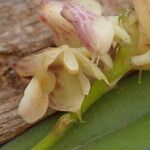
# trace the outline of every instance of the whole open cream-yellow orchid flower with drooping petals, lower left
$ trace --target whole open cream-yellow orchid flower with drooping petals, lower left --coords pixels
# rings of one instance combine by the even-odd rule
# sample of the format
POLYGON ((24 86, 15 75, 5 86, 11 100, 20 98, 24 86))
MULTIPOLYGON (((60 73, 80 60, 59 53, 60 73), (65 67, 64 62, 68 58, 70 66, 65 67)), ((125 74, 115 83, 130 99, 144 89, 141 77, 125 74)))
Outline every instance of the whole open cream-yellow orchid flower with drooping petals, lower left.
POLYGON ((16 64, 20 76, 32 77, 18 110, 26 122, 40 119, 48 106, 59 111, 79 112, 85 95, 89 94, 89 79, 107 82, 85 54, 85 48, 63 45, 27 56, 16 64))

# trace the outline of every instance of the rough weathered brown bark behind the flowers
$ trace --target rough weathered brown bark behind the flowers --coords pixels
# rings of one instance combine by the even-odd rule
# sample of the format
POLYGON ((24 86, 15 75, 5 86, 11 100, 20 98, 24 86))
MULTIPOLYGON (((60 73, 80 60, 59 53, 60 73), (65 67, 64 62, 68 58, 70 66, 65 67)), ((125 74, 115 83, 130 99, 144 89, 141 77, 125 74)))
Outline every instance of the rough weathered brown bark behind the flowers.
MULTIPOLYGON (((107 13, 120 9, 122 2, 128 3, 127 0, 100 1, 109 8, 107 13)), ((17 115, 26 85, 11 68, 12 64, 51 44, 51 32, 38 21, 33 0, 0 0, 0 143, 31 126, 17 115)), ((49 111, 47 115, 52 113, 49 111)))

